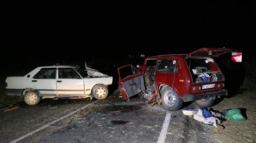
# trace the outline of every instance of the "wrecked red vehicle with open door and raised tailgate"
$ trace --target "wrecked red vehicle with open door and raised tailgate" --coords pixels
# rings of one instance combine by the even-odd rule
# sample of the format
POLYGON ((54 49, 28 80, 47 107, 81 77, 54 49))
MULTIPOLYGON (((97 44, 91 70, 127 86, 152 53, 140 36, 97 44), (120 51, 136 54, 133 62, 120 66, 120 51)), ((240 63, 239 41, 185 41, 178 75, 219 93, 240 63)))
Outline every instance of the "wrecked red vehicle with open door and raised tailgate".
POLYGON ((237 50, 201 48, 190 54, 151 56, 143 66, 118 68, 119 89, 124 99, 139 94, 147 103, 163 103, 171 111, 189 101, 210 107, 215 98, 227 95, 225 77, 212 58, 230 52, 237 50))

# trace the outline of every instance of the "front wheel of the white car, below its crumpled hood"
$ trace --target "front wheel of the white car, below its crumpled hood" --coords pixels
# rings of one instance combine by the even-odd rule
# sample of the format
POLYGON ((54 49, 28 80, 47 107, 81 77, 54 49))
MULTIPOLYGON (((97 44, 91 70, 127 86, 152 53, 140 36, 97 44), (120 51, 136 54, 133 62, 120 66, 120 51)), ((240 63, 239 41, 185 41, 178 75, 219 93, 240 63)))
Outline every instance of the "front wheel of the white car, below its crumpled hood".
POLYGON ((96 99, 104 99, 109 94, 109 90, 107 89, 106 85, 98 84, 92 88, 93 96, 96 99))

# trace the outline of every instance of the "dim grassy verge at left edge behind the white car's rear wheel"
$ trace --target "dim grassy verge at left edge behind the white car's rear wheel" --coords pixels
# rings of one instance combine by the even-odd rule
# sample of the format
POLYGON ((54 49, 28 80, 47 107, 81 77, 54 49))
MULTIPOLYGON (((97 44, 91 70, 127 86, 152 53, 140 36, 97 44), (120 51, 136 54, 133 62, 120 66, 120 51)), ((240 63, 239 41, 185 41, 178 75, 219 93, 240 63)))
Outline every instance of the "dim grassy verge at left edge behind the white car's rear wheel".
POLYGON ((15 95, 8 96, 8 95, 0 94, 0 107, 24 101, 23 98, 24 96, 15 96, 15 95))

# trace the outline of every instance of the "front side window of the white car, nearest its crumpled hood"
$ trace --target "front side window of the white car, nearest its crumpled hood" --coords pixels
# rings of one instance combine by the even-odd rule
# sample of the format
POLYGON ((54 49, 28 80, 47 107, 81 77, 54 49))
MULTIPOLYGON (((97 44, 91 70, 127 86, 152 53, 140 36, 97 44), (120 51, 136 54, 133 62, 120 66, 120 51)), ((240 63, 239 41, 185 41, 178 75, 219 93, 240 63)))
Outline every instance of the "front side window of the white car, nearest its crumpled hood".
POLYGON ((73 68, 58 68, 58 73, 59 73, 59 78, 74 78, 74 79, 81 78, 73 68))

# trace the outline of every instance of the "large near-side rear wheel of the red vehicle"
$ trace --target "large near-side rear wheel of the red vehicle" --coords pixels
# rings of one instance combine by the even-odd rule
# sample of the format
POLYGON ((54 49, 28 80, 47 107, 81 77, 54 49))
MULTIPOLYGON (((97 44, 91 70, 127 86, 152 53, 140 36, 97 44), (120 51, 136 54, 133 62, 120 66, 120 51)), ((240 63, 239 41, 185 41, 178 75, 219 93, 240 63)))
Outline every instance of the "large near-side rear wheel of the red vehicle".
POLYGON ((164 107, 167 110, 177 111, 181 108, 183 104, 183 99, 181 99, 175 90, 171 87, 163 87, 160 90, 161 98, 164 107))

